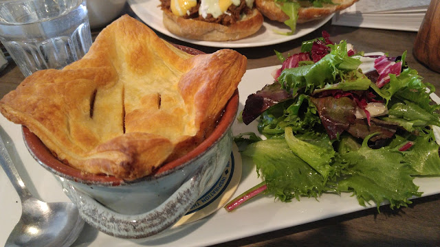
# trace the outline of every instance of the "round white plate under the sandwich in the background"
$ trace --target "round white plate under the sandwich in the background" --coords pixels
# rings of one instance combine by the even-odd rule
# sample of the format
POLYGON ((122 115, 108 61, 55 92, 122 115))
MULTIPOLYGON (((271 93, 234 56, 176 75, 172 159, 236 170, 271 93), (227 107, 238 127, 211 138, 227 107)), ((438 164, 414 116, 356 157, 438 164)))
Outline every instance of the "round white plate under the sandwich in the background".
POLYGON ((201 41, 201 40, 191 40, 188 38, 181 38, 171 34, 164 24, 162 23, 162 10, 158 7, 160 4, 159 0, 129 0, 129 4, 133 12, 146 23, 149 27, 154 30, 166 34, 167 36, 182 40, 195 45, 204 45, 208 47, 223 47, 223 48, 239 48, 239 47, 261 47, 265 45, 274 45, 283 43, 289 40, 294 40, 295 38, 300 38, 318 29, 320 26, 324 25, 331 19, 333 14, 327 16, 325 19, 320 19, 318 21, 311 21, 309 23, 303 23, 296 25, 296 32, 294 35, 286 36, 282 34, 276 34, 274 30, 279 32, 289 32, 290 29, 284 25, 284 23, 279 23, 276 21, 269 21, 265 19, 263 27, 256 32, 256 34, 249 36, 248 38, 243 38, 241 40, 234 41, 201 41))

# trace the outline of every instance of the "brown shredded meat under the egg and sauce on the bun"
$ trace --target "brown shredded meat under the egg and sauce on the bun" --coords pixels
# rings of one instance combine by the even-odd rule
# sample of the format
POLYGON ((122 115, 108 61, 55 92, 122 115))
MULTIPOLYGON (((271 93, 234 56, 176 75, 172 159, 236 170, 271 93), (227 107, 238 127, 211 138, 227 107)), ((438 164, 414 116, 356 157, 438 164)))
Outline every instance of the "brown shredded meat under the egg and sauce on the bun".
MULTIPOLYGON (((160 0, 160 8, 162 10, 170 10, 170 4, 171 0, 160 0)), ((240 20, 241 14, 251 14, 252 10, 246 5, 245 0, 240 1, 240 5, 236 6, 234 4, 231 4, 227 10, 228 14, 221 14, 221 16, 214 18, 212 14, 208 14, 206 18, 203 18, 203 16, 199 15, 199 8, 200 8, 200 2, 197 2, 197 5, 192 7, 189 10, 189 15, 185 14, 184 16, 181 16, 184 19, 193 19, 196 21, 206 21, 210 23, 219 23, 221 25, 231 25, 236 23, 240 20)))

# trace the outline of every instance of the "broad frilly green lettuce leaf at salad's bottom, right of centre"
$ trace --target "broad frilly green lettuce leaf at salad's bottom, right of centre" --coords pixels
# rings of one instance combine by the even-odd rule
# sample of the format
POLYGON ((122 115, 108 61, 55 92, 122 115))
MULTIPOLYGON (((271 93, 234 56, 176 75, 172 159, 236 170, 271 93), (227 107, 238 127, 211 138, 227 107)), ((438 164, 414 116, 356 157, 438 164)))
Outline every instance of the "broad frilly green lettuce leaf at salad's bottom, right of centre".
POLYGON ((339 156, 339 163, 346 163, 346 178, 338 181, 338 190, 352 192, 358 202, 375 202, 379 209, 382 202, 388 201, 391 209, 408 206, 412 196, 421 196, 411 174, 415 174, 410 164, 395 148, 388 146, 371 149, 364 140, 361 148, 339 156))

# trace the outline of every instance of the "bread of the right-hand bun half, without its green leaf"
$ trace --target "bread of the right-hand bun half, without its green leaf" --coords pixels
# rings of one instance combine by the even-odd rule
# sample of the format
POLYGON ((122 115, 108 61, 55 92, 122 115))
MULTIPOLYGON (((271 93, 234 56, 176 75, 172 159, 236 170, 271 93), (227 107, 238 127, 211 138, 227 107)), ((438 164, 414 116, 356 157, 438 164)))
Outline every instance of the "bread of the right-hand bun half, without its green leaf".
MULTIPOLYGON (((298 3, 301 4, 301 7, 298 10, 298 20, 296 23, 305 23, 307 21, 322 19, 336 11, 349 8, 356 1, 358 0, 333 0, 333 3, 336 4, 323 3, 322 8, 307 4, 308 2, 306 1, 298 1, 298 3)), ((278 8, 274 0, 255 0, 254 4, 264 16, 272 21, 285 22, 289 19, 289 16, 287 16, 281 8, 278 8)), ((279 4, 283 5, 283 3, 279 4)))

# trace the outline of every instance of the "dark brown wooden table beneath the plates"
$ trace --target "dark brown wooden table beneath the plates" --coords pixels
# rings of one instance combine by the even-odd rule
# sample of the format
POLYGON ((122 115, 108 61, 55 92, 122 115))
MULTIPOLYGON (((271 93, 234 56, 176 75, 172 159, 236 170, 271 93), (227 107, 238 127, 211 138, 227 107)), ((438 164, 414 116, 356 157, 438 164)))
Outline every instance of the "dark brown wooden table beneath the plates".
MULTIPOLYGON (((128 6, 124 12, 136 17, 128 6)), ((412 56, 415 32, 340 27, 329 22, 297 40, 236 51, 248 58, 248 69, 278 65, 280 62, 274 49, 285 56, 294 54, 300 51, 303 40, 320 36, 322 30, 329 32, 331 40, 347 40, 358 51, 387 51, 391 56, 399 56, 407 50, 406 61, 410 67, 417 69, 426 82, 434 84, 437 91, 440 91, 440 74, 430 71, 412 56)), ((92 30, 92 33, 96 36, 99 31, 92 30)), ((162 34, 159 36, 209 53, 217 50, 214 47, 184 43, 162 34)), ((0 96, 15 89, 23 79, 18 67, 10 60, 8 67, 0 71, 0 96)), ((217 246, 440 246, 440 194, 417 198, 407 208, 392 211, 385 206, 380 210, 381 213, 377 213, 375 208, 366 209, 217 246)))

